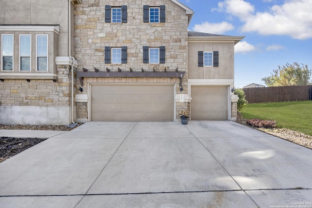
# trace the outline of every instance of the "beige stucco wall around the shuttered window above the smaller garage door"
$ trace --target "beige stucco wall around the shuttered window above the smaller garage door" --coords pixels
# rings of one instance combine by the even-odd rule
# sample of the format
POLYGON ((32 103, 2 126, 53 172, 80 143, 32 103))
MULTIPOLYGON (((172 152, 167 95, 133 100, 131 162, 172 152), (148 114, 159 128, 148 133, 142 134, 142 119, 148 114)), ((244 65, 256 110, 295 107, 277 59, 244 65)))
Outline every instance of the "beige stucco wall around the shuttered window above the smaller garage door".
POLYGON ((188 79, 234 79, 234 42, 189 42, 188 79), (219 52, 219 66, 198 67, 198 51, 219 52))

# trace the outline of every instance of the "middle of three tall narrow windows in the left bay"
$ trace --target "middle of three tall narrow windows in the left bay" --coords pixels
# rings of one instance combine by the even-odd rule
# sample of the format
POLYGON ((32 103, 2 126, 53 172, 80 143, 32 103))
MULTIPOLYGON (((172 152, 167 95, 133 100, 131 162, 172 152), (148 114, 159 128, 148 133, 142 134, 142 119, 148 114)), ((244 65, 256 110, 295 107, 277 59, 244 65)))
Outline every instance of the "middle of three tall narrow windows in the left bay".
POLYGON ((20 35, 20 71, 31 69, 31 35, 20 35))

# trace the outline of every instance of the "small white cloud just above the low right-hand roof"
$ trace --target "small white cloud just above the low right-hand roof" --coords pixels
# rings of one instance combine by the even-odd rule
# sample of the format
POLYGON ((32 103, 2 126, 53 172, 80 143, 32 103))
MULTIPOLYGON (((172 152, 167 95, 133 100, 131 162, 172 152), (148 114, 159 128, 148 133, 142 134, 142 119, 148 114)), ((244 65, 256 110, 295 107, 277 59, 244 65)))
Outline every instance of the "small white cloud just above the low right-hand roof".
POLYGON ((202 33, 216 33, 223 34, 224 32, 233 30, 234 26, 226 21, 222 21, 219 23, 210 23, 208 21, 203 22, 202 24, 195 24, 193 30, 196 32, 202 33))

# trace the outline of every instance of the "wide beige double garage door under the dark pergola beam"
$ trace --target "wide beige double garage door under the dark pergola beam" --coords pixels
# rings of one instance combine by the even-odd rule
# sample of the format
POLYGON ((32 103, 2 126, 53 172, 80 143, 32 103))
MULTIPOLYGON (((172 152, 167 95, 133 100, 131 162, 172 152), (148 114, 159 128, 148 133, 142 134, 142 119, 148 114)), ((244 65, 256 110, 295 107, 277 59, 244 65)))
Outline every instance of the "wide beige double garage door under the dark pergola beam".
POLYGON ((173 121, 173 84, 93 84, 92 121, 173 121))

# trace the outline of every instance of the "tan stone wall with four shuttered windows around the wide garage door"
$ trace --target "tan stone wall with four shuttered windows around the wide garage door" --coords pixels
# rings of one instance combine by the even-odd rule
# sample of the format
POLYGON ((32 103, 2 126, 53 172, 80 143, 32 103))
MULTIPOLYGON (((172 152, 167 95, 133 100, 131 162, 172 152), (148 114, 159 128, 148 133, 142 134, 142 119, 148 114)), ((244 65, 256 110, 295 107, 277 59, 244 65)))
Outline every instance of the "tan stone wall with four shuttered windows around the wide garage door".
MULTIPOLYGON (((183 78, 183 93, 187 94, 188 67, 188 17, 185 10, 171 0, 83 0, 75 5, 75 58, 78 71, 82 67, 93 71, 186 71, 183 78), (127 5, 127 23, 105 22, 105 5, 127 5), (166 6, 166 22, 143 22, 143 5, 166 6), (127 63, 105 63, 104 47, 127 46, 127 63), (165 63, 143 63, 143 46, 165 46, 165 63)), ((84 90, 87 83, 177 83, 176 94, 180 94, 179 79, 173 78, 84 78, 84 90)), ((77 79, 77 87, 80 83, 77 79)), ((78 89, 77 89, 78 91, 78 89)), ((79 92, 78 92, 79 93, 79 92)), ((177 111, 187 110, 187 103, 176 103, 177 111)), ((87 118, 87 104, 77 103, 77 118, 87 118)), ((177 118, 179 118, 177 113, 177 118)))

